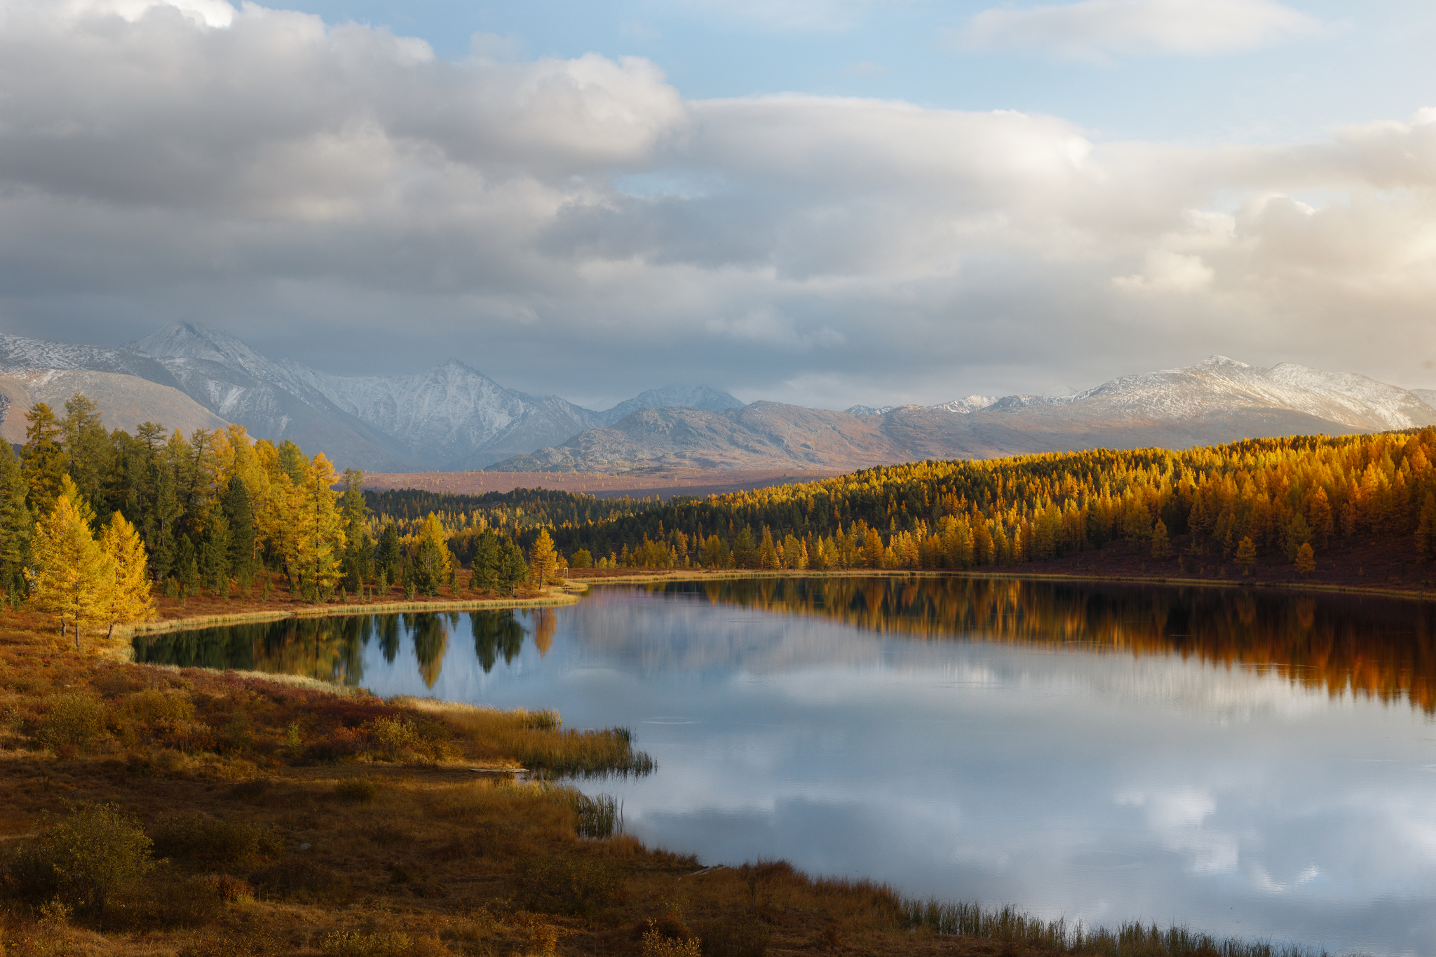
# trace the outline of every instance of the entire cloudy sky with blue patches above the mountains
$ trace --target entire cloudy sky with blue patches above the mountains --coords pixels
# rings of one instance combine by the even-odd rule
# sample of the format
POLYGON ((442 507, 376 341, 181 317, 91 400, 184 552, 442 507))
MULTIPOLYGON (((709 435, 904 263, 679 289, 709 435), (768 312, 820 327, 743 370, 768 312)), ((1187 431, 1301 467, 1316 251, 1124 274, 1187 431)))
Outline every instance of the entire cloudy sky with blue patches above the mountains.
POLYGON ((0 0, 0 330, 596 407, 1436 387, 1436 7, 0 0))

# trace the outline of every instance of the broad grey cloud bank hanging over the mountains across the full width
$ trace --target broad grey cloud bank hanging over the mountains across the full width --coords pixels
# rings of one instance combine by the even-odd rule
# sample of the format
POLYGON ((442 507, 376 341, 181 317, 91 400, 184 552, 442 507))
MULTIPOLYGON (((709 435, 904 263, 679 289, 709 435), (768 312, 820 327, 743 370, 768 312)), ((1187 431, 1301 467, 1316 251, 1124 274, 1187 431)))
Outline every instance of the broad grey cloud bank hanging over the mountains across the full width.
POLYGON ((333 372, 455 356, 596 402, 673 380, 939 402, 1212 352, 1436 385, 1430 112, 1100 142, 685 100, 642 59, 452 63, 218 0, 0 3, 0 89, 10 331, 188 319, 333 372))

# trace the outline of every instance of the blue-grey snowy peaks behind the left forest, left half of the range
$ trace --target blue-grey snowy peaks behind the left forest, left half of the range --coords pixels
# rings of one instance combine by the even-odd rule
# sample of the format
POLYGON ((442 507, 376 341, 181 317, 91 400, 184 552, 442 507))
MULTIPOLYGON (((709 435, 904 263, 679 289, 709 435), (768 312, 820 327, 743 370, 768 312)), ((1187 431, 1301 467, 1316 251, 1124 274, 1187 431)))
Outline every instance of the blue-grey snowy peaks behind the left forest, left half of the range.
POLYGON ((652 403, 742 406, 707 386, 668 386, 595 412, 559 396, 507 389, 458 360, 414 376, 336 376, 270 360, 234 336, 194 323, 174 323, 109 349, 0 334, 0 405, 6 405, 0 435, 23 440, 23 416, 11 415, 13 406, 33 400, 57 406, 73 392, 86 392, 106 410, 131 410, 111 413, 111 428, 155 419, 188 432, 238 422, 254 438, 292 439, 340 468, 378 472, 480 469, 652 403), (111 377, 103 400, 90 393, 95 373, 111 377), (26 387, 39 379, 55 383, 43 396, 26 387), (62 396, 66 382, 76 387, 62 396), (146 405, 154 415, 139 412, 146 405))

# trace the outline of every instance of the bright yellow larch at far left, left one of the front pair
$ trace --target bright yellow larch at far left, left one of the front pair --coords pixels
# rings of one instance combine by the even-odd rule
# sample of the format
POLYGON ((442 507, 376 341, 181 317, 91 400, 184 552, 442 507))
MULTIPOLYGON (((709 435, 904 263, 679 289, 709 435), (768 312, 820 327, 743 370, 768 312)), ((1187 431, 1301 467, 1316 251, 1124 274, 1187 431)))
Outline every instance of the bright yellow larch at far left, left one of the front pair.
POLYGON ((80 628, 102 620, 113 574, 105 552, 90 535, 89 522, 75 508, 79 489, 66 475, 50 511, 34 524, 34 603, 45 614, 59 616, 60 636, 75 627, 75 650, 80 650, 80 628))

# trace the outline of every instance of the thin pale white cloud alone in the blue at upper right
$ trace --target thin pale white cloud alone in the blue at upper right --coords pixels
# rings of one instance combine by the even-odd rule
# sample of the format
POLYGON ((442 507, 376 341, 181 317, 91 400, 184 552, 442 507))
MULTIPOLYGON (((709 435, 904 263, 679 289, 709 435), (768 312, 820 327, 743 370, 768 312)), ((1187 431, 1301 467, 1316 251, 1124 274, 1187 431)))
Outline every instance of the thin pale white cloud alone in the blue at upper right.
POLYGON ((1113 55, 1239 53, 1320 29, 1317 20, 1272 0, 1081 0, 984 10, 958 40, 976 50, 1106 62, 1113 55))

